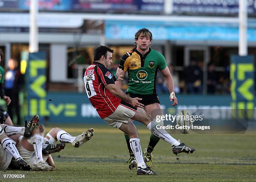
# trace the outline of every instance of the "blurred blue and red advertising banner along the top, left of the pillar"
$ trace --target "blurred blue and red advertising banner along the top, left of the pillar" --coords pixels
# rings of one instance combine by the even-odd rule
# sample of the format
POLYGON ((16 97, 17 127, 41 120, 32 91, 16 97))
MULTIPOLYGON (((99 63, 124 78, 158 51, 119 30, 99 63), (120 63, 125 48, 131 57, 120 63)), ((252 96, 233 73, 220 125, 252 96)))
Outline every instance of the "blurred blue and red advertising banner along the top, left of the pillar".
MULTIPOLYGON (((29 10, 30 0, 2 0, 0 10, 29 10)), ((164 0, 38 0, 39 10, 79 12, 161 12, 164 0)))

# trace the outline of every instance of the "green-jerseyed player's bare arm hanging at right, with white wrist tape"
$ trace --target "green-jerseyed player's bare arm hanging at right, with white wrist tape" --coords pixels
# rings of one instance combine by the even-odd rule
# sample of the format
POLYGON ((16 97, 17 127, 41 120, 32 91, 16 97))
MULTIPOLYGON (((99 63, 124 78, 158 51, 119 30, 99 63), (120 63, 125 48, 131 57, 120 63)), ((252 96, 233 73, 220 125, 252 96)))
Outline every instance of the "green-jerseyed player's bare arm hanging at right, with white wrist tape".
POLYGON ((170 92, 170 101, 174 101, 174 103, 172 104, 172 106, 176 106, 178 104, 178 99, 176 98, 175 94, 174 94, 174 82, 172 79, 172 75, 169 71, 169 68, 166 67, 163 70, 161 70, 162 75, 164 76, 164 80, 166 83, 166 86, 170 92))

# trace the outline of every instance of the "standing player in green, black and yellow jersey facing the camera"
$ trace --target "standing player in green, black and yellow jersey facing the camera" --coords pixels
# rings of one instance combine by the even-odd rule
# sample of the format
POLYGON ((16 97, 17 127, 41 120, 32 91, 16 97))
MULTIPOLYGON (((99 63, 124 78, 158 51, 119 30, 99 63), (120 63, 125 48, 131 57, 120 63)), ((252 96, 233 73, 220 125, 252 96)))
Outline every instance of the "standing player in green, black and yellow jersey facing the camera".
MULTIPOLYGON (((121 78, 124 78, 126 71, 128 72, 129 83, 126 94, 132 98, 141 98, 141 104, 145 105, 144 110, 155 119, 157 115, 162 115, 159 97, 156 93, 156 74, 158 69, 164 76, 166 86, 170 92, 170 101, 173 101, 172 106, 176 106, 178 100, 174 94, 173 79, 169 68, 166 65, 164 56, 150 48, 152 33, 148 29, 142 28, 137 31, 134 39, 136 47, 122 56, 117 72, 120 72, 121 78)), ((115 85, 119 88, 121 87, 121 84, 121 81, 115 82, 115 85)), ((163 123, 156 124, 162 125, 163 123)), ((130 147, 129 136, 127 134, 125 134, 125 139, 130 154, 130 159, 128 160, 129 169, 133 169, 136 167, 137 163, 130 147)), ((174 138, 171 138, 171 140, 174 154, 191 152, 182 149, 187 147, 185 144, 180 143, 174 138)), ((144 150, 144 161, 148 167, 151 166, 153 159, 152 152, 158 142, 159 138, 151 134, 148 147, 144 150)))

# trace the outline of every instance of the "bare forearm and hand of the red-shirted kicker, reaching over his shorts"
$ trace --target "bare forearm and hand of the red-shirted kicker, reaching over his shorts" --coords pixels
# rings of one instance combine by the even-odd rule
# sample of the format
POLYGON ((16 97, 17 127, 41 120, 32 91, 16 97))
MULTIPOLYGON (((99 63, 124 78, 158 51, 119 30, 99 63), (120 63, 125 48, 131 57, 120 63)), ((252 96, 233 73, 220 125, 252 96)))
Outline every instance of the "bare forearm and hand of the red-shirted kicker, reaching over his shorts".
POLYGON ((115 84, 108 84, 106 85, 106 88, 116 97, 118 97, 119 99, 122 99, 123 101, 126 101, 128 103, 130 103, 133 107, 140 107, 143 108, 143 104, 139 103, 139 100, 142 100, 138 97, 136 98, 131 98, 130 96, 128 96, 127 94, 123 93, 123 91, 116 87, 115 84))

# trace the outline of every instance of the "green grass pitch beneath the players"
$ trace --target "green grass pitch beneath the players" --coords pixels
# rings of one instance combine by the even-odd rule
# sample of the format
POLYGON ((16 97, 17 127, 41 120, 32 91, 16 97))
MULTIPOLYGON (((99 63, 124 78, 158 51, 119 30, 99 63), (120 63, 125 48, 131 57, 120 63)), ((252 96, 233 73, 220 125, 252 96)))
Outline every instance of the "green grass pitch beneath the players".
MULTIPOLYGON (((76 136, 90 127, 95 129, 92 140, 80 148, 67 144, 52 155, 55 171, 0 171, 0 181, 256 181, 256 134, 174 134, 196 152, 180 154, 177 160, 171 146, 160 141, 152 167, 159 175, 138 176, 136 170, 128 169, 127 146, 118 129, 107 124, 61 128, 76 136), (3 174, 25 174, 25 178, 4 179, 3 174)), ((143 126, 138 131, 143 150, 150 131, 143 126)))

